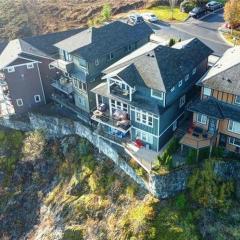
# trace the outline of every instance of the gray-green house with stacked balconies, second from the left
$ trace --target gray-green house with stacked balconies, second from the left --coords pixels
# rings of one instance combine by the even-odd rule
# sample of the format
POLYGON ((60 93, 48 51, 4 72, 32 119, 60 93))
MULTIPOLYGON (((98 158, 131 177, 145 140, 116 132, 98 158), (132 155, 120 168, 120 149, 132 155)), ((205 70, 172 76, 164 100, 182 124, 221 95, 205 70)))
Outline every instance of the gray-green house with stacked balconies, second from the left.
POLYGON ((131 26, 115 21, 55 44, 60 59, 50 66, 60 72, 53 83, 53 100, 89 121, 96 103, 90 89, 100 83, 102 70, 147 43, 152 33, 145 23, 131 26))

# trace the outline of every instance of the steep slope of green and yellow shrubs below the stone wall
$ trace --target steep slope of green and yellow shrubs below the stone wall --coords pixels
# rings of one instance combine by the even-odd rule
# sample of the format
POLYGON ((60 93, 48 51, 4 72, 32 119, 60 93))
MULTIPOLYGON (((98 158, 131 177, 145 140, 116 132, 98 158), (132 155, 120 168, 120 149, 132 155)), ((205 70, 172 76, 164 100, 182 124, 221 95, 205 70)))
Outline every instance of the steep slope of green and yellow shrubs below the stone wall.
POLYGON ((211 166, 186 194, 159 201, 85 139, 1 130, 0 239, 238 240, 234 183, 211 166))

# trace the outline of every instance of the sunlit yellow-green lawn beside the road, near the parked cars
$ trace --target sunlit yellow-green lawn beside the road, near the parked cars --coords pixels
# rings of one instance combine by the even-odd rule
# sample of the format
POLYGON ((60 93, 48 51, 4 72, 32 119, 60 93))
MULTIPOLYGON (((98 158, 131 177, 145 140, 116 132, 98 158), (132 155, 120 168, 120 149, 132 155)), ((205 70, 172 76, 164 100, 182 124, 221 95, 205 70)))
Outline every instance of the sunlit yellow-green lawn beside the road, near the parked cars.
POLYGON ((162 21, 183 22, 188 18, 188 14, 181 12, 179 7, 175 7, 173 9, 173 19, 172 19, 172 11, 169 6, 152 7, 152 8, 148 8, 148 9, 139 10, 139 12, 140 13, 144 13, 144 12, 153 13, 159 18, 159 20, 162 20, 162 21))

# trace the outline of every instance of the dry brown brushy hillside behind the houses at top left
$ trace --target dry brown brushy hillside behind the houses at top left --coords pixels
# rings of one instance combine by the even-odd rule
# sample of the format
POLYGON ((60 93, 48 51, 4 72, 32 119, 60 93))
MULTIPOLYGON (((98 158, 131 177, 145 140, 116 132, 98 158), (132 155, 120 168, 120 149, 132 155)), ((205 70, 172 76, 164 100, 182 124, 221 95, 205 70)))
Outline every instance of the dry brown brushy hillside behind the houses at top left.
POLYGON ((0 0, 0 39, 79 28, 96 17, 106 2, 116 14, 152 0, 0 0))

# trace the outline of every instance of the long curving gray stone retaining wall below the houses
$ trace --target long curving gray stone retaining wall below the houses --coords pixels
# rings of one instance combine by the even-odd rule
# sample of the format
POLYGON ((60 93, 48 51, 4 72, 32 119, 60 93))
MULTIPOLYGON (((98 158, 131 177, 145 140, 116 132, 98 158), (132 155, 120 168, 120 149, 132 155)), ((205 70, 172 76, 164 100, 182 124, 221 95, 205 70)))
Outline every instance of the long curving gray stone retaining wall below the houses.
MULTIPOLYGON (((87 139, 105 156, 111 159, 121 170, 129 175, 141 187, 150 191, 158 198, 168 198, 175 196, 177 193, 184 191, 187 187, 188 176, 191 170, 188 168, 173 171, 164 176, 150 175, 149 181, 145 181, 138 176, 135 170, 123 160, 119 152, 112 145, 108 144, 100 136, 93 132, 90 127, 86 127, 77 121, 70 119, 44 116, 41 114, 29 114, 30 121, 19 122, 13 120, 1 120, 0 125, 14 129, 41 129, 45 131, 48 138, 64 137, 67 135, 77 134, 87 139)), ((63 148, 67 145, 63 142, 63 148)), ((64 150, 64 149, 63 149, 64 150)), ((215 172, 224 180, 240 180, 240 163, 238 162, 218 162, 215 164, 215 172)))

